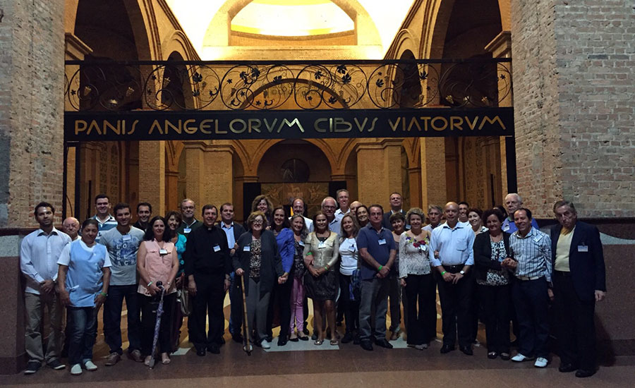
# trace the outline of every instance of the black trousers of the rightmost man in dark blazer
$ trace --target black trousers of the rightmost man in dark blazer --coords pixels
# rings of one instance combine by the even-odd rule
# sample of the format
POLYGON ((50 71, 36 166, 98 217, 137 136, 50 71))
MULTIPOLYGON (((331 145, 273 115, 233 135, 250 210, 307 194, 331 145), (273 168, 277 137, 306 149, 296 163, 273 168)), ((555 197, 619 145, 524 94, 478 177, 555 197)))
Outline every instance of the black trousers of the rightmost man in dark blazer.
POLYGON ((557 271, 553 293, 560 361, 595 370, 595 301, 581 301, 570 275, 557 271))

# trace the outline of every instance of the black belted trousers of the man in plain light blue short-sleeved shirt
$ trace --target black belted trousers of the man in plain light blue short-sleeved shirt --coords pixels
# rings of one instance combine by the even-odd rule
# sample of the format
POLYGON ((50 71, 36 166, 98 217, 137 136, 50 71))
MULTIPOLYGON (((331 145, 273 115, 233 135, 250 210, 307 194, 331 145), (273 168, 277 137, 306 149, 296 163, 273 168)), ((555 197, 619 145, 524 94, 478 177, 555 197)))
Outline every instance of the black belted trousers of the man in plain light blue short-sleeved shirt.
MULTIPOLYGON (((459 272, 460 267, 444 266, 447 272, 452 273, 459 272)), ((471 272, 468 272, 456 284, 452 284, 452 281, 444 281, 441 276, 438 277, 444 345, 454 347, 457 332, 459 346, 470 346, 472 343, 470 302, 473 287, 471 277, 471 272)))

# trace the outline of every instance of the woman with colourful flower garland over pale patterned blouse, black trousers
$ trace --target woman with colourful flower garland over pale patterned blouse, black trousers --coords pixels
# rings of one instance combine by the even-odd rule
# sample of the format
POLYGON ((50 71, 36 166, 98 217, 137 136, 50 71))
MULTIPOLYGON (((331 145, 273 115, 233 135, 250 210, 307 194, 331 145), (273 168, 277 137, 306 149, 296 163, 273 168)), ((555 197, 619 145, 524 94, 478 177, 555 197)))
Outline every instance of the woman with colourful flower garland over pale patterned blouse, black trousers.
POLYGON ((422 229, 423 210, 413 207, 406 214, 411 229, 399 239, 399 278, 406 291, 408 346, 423 350, 435 336, 437 311, 435 281, 430 272, 430 232, 422 229))

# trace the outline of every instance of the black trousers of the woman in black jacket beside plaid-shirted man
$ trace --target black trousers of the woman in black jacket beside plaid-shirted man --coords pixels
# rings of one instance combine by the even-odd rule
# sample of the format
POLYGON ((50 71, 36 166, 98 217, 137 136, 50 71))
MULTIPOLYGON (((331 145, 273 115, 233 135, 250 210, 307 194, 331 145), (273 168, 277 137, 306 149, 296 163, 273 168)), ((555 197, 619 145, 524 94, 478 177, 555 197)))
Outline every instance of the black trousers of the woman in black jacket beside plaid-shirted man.
POLYGON ((488 352, 509 353, 509 305, 512 289, 504 286, 478 285, 478 296, 485 318, 488 352))

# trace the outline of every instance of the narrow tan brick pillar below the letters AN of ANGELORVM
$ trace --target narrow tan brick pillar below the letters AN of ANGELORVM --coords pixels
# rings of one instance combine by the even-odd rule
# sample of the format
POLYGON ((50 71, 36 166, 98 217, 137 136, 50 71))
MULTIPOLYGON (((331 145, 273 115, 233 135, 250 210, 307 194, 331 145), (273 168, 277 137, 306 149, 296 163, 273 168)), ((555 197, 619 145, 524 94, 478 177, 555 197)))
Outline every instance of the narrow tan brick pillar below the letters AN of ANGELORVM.
MULTIPOLYGON (((164 140, 139 142, 138 202, 150 202, 153 214, 165 214, 164 140)), ((136 204, 131 203, 131 206, 136 207, 136 204)))

